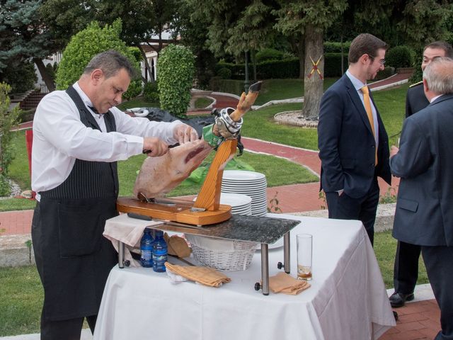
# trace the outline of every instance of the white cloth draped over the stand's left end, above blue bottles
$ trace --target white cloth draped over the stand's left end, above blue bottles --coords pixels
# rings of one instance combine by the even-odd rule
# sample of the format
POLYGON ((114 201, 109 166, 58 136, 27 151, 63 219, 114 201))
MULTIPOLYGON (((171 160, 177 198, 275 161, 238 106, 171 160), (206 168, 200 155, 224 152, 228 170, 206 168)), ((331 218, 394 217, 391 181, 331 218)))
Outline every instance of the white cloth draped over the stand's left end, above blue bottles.
POLYGON ((138 220, 122 214, 105 221, 103 235, 110 239, 116 251, 118 251, 118 241, 124 243, 125 260, 130 261, 130 266, 139 267, 139 261, 132 259, 130 251, 134 248, 140 249, 144 228, 161 224, 162 222, 138 220))

